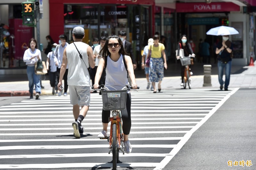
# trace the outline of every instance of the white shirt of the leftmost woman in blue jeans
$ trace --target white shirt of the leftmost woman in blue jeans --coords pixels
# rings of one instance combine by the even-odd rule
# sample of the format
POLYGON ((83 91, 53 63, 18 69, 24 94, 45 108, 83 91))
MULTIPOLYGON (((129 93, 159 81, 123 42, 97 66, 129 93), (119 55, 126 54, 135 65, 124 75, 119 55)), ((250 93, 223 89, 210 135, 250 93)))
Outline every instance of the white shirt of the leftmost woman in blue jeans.
POLYGON ((30 60, 31 57, 34 57, 34 56, 39 56, 40 60, 42 60, 42 57, 41 57, 41 51, 38 50, 38 49, 35 49, 33 52, 32 50, 29 48, 28 50, 26 50, 24 52, 24 56, 23 56, 23 61, 26 62, 26 65, 35 65, 35 63, 38 61, 37 57, 33 58, 30 60))

